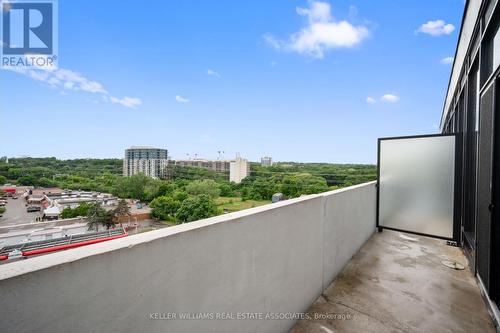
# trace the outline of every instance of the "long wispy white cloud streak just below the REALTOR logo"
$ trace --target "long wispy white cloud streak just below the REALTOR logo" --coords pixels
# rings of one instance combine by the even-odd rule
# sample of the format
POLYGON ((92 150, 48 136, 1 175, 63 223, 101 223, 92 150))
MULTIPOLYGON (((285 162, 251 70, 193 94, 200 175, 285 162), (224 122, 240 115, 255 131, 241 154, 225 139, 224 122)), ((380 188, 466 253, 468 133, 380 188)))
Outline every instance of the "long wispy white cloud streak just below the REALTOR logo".
POLYGON ((109 92, 104 86, 94 80, 90 80, 82 74, 69 69, 40 69, 40 68, 23 68, 23 67, 4 67, 5 70, 10 70, 27 77, 42 82, 53 89, 59 89, 63 94, 66 91, 84 91, 92 94, 100 94, 105 101, 118 103, 125 107, 135 108, 142 104, 139 98, 124 97, 119 99, 109 95, 109 92))

